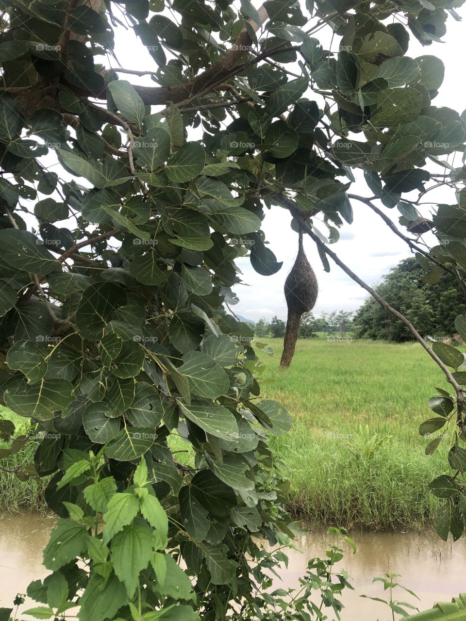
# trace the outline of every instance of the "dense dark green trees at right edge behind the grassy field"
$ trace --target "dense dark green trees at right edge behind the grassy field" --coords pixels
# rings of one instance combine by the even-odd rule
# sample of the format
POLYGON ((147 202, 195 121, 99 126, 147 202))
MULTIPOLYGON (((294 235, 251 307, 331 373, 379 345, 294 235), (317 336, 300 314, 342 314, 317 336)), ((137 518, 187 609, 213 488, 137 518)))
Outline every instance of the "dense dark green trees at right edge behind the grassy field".
MULTIPOLYGON (((460 295, 455 276, 436 270, 427 272, 414 257, 403 259, 383 276, 376 291, 424 336, 453 336, 455 317, 466 312, 464 294, 460 295)), ((412 338, 408 328, 372 298, 356 312, 352 330, 359 338, 397 343, 412 338)))

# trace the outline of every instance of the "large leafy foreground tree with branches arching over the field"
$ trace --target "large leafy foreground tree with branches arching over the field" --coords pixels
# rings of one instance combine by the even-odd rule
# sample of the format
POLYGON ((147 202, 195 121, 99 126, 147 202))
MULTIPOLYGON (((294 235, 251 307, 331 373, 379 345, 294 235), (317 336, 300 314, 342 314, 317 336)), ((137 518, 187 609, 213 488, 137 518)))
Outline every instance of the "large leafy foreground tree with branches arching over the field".
MULTIPOLYGON (((280 555, 256 542, 295 532, 268 442, 291 420, 257 399, 252 330, 219 312, 235 299, 235 258, 263 276, 280 270, 264 207, 288 210, 325 270, 330 258, 442 369, 454 396, 434 398, 439 415, 421 433, 456 425, 457 474, 432 492, 444 498, 437 531, 461 535, 464 390, 450 369, 463 356, 427 347, 322 233, 337 242, 351 201, 362 202, 432 278, 447 270, 465 285, 466 174, 444 161, 464 151, 465 120, 432 104, 441 61, 407 55, 409 32, 431 45, 455 13, 446 0, 424 4, 2 2, 3 402, 47 432, 34 466, 16 474, 50 476, 60 516, 44 553, 52 574, 29 589, 47 605, 31 614, 276 619, 274 600, 256 592, 280 555), (322 27, 330 49, 314 37, 322 27), (114 30, 126 29, 148 69, 115 60, 114 30), (347 191, 352 168, 370 197, 347 191), (445 202, 429 220, 421 198, 437 184, 445 202), (432 229, 439 245, 401 232, 384 211, 395 207, 400 229, 432 229), (185 438, 188 463, 171 435, 185 438)), ((9 420, 1 432, 10 451, 27 442, 9 420)), ((309 615, 305 603, 293 612, 309 615)))

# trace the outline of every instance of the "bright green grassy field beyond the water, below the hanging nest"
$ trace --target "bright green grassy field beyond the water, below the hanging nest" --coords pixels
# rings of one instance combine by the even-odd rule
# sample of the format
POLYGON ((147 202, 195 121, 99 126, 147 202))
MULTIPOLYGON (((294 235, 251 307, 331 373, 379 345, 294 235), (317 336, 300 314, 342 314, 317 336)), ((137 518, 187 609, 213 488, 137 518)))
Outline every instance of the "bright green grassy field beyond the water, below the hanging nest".
POLYGON ((427 483, 448 466, 444 449, 424 454, 429 438, 418 427, 431 417, 434 386, 447 386, 426 352, 414 343, 298 340, 290 369, 279 373, 281 340, 261 341, 275 350, 261 356, 271 380, 263 392, 293 418, 276 440, 290 468, 291 512, 372 529, 429 522, 437 501, 427 483))

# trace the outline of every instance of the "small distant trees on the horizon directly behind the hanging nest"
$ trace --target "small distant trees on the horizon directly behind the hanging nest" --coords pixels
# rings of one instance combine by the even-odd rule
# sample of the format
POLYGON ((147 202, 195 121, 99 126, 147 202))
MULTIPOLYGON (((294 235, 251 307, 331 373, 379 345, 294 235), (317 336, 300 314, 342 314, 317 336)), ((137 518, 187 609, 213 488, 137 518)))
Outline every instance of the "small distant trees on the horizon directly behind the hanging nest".
MULTIPOLYGON (((306 312, 301 317, 298 336, 299 338, 316 338, 318 337, 318 332, 322 332, 324 336, 336 333, 346 336, 352 327, 351 316, 352 312, 333 311, 322 312, 321 316, 316 318, 312 312, 306 312)), ((270 322, 267 322, 265 319, 259 319, 254 324, 253 329, 255 336, 259 338, 283 338, 285 336, 286 323, 275 315, 270 322)))

